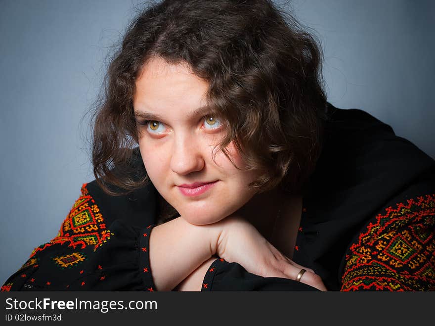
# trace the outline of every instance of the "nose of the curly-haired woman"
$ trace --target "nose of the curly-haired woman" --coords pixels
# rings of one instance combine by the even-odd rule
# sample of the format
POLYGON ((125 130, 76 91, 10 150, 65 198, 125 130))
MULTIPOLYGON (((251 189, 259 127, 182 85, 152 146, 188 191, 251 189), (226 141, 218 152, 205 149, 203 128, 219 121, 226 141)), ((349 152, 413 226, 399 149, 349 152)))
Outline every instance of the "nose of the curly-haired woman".
POLYGON ((179 175, 187 175, 204 169, 204 156, 201 146, 194 137, 178 137, 174 141, 171 170, 179 175))

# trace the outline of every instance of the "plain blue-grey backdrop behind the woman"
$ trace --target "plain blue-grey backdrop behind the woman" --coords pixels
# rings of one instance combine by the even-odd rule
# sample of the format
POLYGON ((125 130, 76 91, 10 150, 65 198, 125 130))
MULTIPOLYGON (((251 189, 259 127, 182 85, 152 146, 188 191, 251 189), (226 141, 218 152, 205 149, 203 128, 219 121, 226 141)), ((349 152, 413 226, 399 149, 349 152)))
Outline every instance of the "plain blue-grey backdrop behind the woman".
MULTIPOLYGON (((85 113, 138 3, 0 0, 1 284, 93 179, 85 113)), ((435 158, 435 1, 291 7, 321 40, 328 100, 368 111, 435 158)))

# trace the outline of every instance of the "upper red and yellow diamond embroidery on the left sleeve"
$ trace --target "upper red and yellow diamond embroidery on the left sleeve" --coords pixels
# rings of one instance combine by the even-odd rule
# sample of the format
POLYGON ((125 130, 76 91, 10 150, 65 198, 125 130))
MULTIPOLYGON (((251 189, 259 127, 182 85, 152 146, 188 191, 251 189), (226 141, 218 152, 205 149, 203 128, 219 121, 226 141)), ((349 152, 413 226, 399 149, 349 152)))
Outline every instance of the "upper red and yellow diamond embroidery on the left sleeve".
POLYGON ((35 248, 30 257, 54 244, 67 243, 70 247, 80 246, 81 249, 92 245, 95 250, 110 239, 113 233, 106 230, 100 210, 89 195, 86 186, 87 184, 83 184, 82 195, 74 203, 57 236, 50 242, 35 248))

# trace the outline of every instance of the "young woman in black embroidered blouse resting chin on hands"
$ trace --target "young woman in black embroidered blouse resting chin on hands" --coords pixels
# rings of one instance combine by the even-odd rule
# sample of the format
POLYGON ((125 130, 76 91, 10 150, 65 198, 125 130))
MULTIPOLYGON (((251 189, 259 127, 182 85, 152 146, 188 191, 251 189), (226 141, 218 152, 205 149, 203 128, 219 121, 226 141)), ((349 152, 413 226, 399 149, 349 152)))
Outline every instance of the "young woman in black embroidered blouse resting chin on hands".
POLYGON ((434 289, 434 160, 326 101, 267 0, 163 1, 96 112, 96 180, 3 290, 434 289))

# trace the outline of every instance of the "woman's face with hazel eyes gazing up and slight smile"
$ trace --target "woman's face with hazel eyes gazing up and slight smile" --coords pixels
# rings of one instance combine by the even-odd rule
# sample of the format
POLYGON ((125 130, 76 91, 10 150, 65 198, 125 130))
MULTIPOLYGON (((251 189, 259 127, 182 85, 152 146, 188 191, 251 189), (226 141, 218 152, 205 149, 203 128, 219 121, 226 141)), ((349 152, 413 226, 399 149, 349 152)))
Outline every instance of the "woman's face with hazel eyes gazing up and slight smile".
POLYGON ((231 142, 228 158, 215 150, 225 130, 210 116, 208 84, 187 64, 153 58, 136 79, 133 98, 139 149, 149 178, 159 193, 188 222, 215 223, 232 214, 254 195, 248 185, 255 171, 244 164, 231 142))

